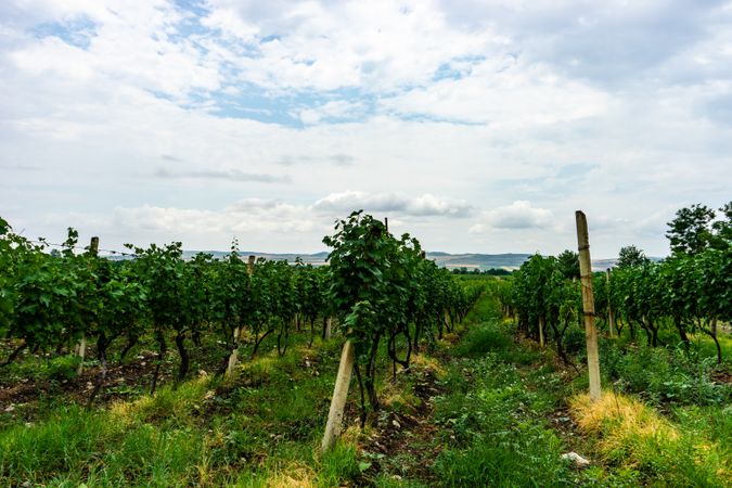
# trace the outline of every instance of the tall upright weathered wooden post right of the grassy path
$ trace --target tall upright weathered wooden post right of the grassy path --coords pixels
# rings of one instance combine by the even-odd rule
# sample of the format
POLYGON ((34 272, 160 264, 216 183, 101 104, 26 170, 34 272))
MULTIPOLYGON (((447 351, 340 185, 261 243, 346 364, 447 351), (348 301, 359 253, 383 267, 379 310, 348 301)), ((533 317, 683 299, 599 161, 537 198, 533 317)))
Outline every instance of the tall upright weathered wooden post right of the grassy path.
POLYGON ((594 326, 590 234, 587 229, 585 213, 577 210, 575 218, 577 221, 577 249, 579 251, 579 274, 582 284, 582 310, 585 312, 585 335, 587 338, 587 369, 590 375, 590 400, 598 401, 601 396, 600 354, 598 351, 598 330, 594 326))

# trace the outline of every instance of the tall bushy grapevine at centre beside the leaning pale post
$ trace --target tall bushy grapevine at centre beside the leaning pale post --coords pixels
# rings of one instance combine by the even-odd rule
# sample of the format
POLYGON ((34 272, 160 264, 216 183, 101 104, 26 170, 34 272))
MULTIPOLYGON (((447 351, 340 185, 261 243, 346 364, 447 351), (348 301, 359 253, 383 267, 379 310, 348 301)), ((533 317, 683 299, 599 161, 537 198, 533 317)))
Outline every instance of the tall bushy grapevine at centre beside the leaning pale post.
POLYGON ((420 337, 433 336, 435 325, 441 335, 444 328, 464 318, 481 287, 463 291, 447 270, 424 259, 419 241, 409 234, 394 237, 384 223, 360 210, 337 221, 335 231, 323 239, 333 248, 328 257, 329 300, 355 342, 359 385, 363 368, 363 386, 377 409, 375 358, 382 339, 387 339, 391 360, 408 368, 420 337), (397 357, 399 336, 407 345, 403 359, 397 357))

